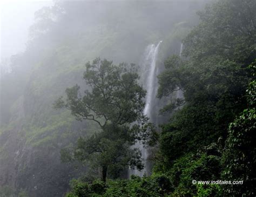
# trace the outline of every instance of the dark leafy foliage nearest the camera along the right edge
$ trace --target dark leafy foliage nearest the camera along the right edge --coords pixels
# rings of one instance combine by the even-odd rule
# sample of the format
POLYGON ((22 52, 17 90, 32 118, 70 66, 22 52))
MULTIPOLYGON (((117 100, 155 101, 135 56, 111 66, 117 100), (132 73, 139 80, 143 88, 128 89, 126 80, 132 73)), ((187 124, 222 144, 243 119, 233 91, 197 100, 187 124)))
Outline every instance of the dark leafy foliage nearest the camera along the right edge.
MULTIPOLYGON (((250 65, 255 77, 256 62, 250 65)), ((223 154, 223 179, 244 181, 242 185, 225 188, 227 195, 253 196, 256 193, 256 80, 250 82, 247 93, 247 108, 235 118, 228 129, 228 138, 223 154)))

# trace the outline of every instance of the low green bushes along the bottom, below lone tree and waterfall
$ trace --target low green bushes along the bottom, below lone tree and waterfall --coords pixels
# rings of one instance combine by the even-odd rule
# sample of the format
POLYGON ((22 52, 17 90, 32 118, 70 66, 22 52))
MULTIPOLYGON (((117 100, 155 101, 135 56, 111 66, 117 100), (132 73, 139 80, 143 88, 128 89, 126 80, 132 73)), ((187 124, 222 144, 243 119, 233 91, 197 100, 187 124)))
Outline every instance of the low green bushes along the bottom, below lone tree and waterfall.
POLYGON ((66 197, 86 196, 167 196, 173 192, 171 180, 166 175, 152 175, 140 178, 131 176, 130 180, 109 180, 103 182, 84 182, 83 179, 70 182, 72 191, 66 197))

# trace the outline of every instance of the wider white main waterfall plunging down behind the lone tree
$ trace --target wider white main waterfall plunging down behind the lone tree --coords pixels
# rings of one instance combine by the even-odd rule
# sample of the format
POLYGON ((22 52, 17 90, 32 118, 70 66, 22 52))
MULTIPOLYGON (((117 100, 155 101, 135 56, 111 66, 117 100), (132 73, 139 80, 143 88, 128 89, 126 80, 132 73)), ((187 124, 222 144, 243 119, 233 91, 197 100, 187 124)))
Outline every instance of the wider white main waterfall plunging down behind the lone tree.
MULTIPOLYGON (((143 61, 142 61, 142 79, 144 88, 147 91, 146 94, 146 105, 144 108, 143 113, 150 118, 150 121, 152 121, 152 108, 153 108, 153 101, 156 99, 156 93, 157 93, 157 69, 156 69, 156 58, 158 55, 158 48, 162 41, 160 41, 157 46, 154 44, 151 44, 146 47, 143 61)), ((150 169, 147 165, 147 157, 148 152, 146 148, 142 145, 141 142, 137 142, 135 147, 139 148, 140 151, 142 151, 142 159, 144 161, 144 169, 142 171, 138 171, 137 169, 134 169, 134 171, 130 172, 131 174, 143 176, 144 174, 148 175, 150 172, 150 169)))

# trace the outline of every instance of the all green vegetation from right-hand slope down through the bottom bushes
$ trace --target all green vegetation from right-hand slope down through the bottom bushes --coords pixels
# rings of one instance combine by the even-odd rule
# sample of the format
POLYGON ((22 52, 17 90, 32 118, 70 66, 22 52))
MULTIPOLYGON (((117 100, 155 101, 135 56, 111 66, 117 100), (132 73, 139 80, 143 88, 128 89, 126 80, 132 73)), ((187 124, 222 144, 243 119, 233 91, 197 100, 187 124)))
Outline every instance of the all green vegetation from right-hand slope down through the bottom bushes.
POLYGON ((165 60, 158 97, 176 91, 184 97, 170 99, 161 110, 170 120, 161 125, 150 177, 109 180, 100 192, 92 189, 98 182, 77 180, 66 196, 255 195, 255 9, 255 1, 208 5, 184 39, 183 56, 165 60), (192 180, 243 184, 193 185, 192 180))

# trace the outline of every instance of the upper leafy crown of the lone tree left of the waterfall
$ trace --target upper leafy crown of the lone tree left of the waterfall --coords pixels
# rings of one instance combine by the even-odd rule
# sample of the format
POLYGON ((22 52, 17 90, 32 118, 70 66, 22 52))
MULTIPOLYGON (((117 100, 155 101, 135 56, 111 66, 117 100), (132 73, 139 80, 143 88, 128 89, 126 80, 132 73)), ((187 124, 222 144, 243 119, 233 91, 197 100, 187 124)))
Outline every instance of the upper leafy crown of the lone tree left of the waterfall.
POLYGON ((108 60, 86 64, 85 83, 90 90, 80 96, 78 85, 66 89, 66 103, 60 97, 55 108, 68 108, 78 120, 93 120, 104 130, 107 123, 125 125, 142 120, 146 92, 138 85, 134 65, 113 65, 108 60))

